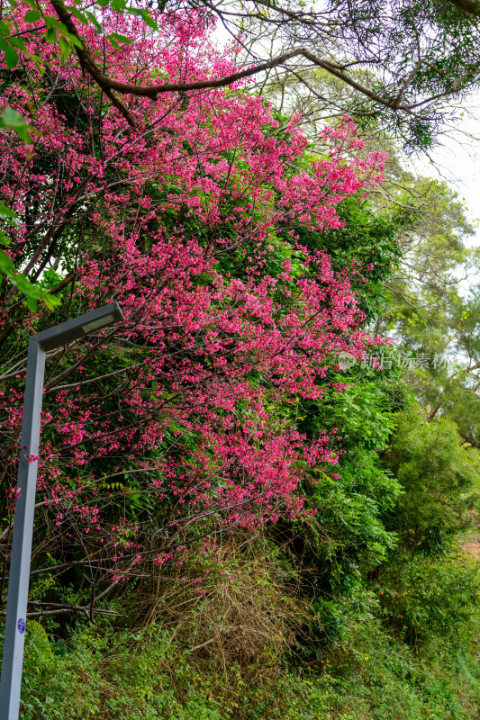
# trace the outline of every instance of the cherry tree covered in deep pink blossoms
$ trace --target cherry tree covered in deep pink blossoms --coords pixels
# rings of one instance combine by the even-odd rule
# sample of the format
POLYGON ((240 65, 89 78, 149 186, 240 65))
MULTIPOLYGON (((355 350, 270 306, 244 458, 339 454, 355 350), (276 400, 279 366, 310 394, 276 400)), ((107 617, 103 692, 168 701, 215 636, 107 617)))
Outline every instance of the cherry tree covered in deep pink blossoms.
MULTIPOLYGON (((149 31, 104 10, 89 51, 129 84, 233 69, 235 49, 215 49, 195 14, 158 22, 149 31)), ((339 227, 337 204, 376 184, 383 157, 364 152, 348 118, 314 156, 298 117, 240 83, 130 97, 132 128, 74 57, 26 37, 23 72, 4 67, 1 103, 27 109, 32 134, 31 145, 0 135, 0 194, 16 217, 7 252, 61 304, 31 315, 2 285, 4 517, 29 335, 117 300, 122 327, 50 356, 39 460, 33 572, 83 568, 77 609, 92 613, 140 566, 181 565, 218 532, 294 517, 301 480, 336 463, 335 431, 309 440, 289 409, 331 389, 340 351, 382 340, 360 327, 350 278, 361 268, 333 272, 295 229, 339 227)), ((37 603, 32 613, 72 609, 37 603)))

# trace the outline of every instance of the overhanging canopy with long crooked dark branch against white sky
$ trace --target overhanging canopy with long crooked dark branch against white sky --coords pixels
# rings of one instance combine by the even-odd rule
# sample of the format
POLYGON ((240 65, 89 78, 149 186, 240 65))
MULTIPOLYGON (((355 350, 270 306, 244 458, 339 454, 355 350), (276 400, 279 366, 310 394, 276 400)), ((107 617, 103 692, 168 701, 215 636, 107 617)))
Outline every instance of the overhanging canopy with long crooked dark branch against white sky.
MULTIPOLYGON (((19 5, 23 23, 14 13, 16 3, 4 5, 1 41, 6 65, 16 66, 30 37, 41 35, 50 43, 58 37, 60 51, 77 54, 82 70, 131 124, 134 119, 125 99, 129 95, 154 101, 163 93, 230 86, 250 76, 264 91, 272 83, 283 86, 294 80, 319 106, 329 107, 330 112, 337 108, 363 122, 375 121, 403 138, 408 148, 431 147, 450 120, 452 108, 475 92, 478 83, 480 40, 473 2, 398 0, 385 5, 329 0, 308 7, 268 0, 148 4, 115 0, 99 5, 95 13, 81 3, 54 0, 37 6, 32 0, 19 5), (168 81, 146 76, 125 79, 116 75, 114 66, 99 62, 89 47, 88 27, 103 32, 101 8, 140 17, 153 31, 161 18, 195 14, 205 28, 217 24, 229 33, 238 60, 234 67, 202 78, 192 76, 185 66, 168 81), (308 82, 312 68, 336 78, 349 92, 339 99, 328 85, 320 90, 312 87, 308 82)), ((124 41, 121 32, 110 34, 113 42, 124 41)))

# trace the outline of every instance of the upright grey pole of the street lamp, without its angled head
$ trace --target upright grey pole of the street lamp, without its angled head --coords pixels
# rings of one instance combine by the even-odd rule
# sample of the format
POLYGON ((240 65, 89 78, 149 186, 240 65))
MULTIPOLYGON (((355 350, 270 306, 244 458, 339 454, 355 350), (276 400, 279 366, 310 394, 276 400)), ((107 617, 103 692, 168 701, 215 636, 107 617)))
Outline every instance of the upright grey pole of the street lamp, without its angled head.
POLYGON ((1 720, 17 720, 20 709, 23 644, 32 559, 33 514, 37 490, 38 461, 32 461, 32 455, 39 455, 44 372, 45 350, 33 336, 28 347, 18 466, 19 495, 15 505, 12 563, 6 603, 4 657, 0 682, 1 720))

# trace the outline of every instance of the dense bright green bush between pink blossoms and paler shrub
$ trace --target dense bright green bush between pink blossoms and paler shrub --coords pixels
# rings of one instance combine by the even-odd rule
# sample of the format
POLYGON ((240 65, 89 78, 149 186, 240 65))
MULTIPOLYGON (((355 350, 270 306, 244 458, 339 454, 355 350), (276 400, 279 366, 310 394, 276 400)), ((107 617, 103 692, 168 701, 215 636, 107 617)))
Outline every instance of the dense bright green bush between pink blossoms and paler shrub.
POLYGON ((358 371, 354 382, 335 374, 334 382, 349 383, 340 395, 326 392, 322 401, 299 404, 297 418, 308 436, 336 428, 339 462, 314 473, 304 486, 303 515, 271 531, 299 573, 299 592, 314 609, 297 652, 317 662, 332 644, 348 638, 348 608, 357 618, 371 614, 365 580, 395 544, 383 518, 393 511, 400 487, 379 461, 394 429, 392 386, 378 373, 370 375, 358 371))

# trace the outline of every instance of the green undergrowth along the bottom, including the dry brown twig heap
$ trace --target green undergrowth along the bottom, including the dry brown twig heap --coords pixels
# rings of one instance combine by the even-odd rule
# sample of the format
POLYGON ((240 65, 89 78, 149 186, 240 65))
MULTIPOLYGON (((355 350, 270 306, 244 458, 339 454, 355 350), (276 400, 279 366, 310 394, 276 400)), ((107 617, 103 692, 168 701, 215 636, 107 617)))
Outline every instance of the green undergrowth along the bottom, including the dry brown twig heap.
POLYGON ((204 596, 167 585, 143 629, 132 628, 145 608, 131 606, 126 627, 125 606, 113 603, 122 626, 106 616, 78 621, 68 641, 53 622, 48 634, 32 622, 23 720, 478 717, 478 571, 466 554, 403 559, 396 575, 392 563, 361 611, 339 603, 342 631, 330 642, 300 632, 307 609, 292 585, 285 595, 271 559, 231 556, 225 567, 229 581, 213 581, 204 596))

